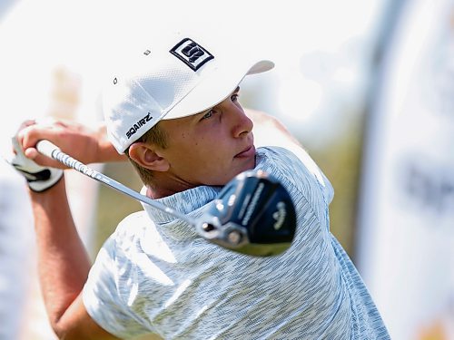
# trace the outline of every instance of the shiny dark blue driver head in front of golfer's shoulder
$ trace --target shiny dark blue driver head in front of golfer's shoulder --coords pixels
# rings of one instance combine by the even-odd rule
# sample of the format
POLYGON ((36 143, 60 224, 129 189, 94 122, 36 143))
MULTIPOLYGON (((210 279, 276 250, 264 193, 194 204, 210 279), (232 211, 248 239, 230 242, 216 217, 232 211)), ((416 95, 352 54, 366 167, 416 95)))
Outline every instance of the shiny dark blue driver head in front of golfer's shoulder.
POLYGON ((198 224, 204 238, 213 243, 266 257, 291 246, 296 212, 278 180, 262 170, 248 170, 227 183, 198 224))

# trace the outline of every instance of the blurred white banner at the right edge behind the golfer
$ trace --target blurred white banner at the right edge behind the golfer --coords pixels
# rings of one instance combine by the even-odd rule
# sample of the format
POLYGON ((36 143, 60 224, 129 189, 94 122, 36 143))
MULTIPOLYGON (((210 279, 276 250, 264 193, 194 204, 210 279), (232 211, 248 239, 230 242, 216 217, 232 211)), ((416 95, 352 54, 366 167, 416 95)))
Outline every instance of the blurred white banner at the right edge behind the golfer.
POLYGON ((454 339, 454 1, 407 1, 387 51, 357 264, 393 339, 454 339))

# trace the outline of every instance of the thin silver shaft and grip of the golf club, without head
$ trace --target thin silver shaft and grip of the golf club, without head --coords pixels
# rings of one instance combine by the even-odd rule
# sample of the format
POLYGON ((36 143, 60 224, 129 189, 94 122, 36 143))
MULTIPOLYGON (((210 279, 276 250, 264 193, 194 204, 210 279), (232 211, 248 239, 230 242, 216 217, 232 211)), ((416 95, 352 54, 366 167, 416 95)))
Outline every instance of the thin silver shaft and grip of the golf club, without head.
POLYGON ((64 165, 66 165, 68 168, 79 171, 80 173, 84 174, 87 177, 90 177, 93 180, 97 180, 103 183, 104 185, 116 189, 133 199, 137 199, 145 204, 148 204, 155 209, 162 210, 163 212, 166 212, 177 219, 182 219, 183 221, 188 222, 192 226, 195 225, 195 219, 192 219, 187 215, 183 215, 180 211, 167 207, 156 200, 150 199, 149 197, 144 196, 139 192, 126 187, 122 183, 111 179, 110 177, 104 175, 103 173, 88 167, 80 160, 75 160, 73 157, 61 151, 56 145, 54 145, 50 141, 38 141, 38 143, 36 144, 36 149, 45 156, 52 158, 54 160, 58 160, 64 165))

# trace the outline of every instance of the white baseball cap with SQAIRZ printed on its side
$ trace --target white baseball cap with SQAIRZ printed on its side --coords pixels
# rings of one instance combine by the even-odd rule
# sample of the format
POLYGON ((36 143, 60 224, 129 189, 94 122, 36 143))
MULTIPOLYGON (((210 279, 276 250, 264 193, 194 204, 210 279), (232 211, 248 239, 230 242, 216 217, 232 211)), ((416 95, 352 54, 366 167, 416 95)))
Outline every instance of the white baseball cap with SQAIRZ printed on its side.
POLYGON ((176 33, 156 39, 116 70, 104 88, 108 138, 123 153, 158 121, 206 111, 244 76, 273 66, 216 36, 176 33))

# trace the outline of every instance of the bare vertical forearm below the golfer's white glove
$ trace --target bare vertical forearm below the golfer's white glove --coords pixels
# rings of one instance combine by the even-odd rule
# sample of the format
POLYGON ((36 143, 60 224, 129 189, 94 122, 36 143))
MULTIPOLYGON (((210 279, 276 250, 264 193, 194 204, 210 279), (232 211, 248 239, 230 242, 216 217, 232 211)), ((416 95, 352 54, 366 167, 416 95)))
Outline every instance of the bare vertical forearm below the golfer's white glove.
POLYGON ((65 193, 64 179, 44 193, 30 191, 38 246, 38 269, 44 305, 58 334, 63 317, 81 293, 90 259, 77 234, 65 193))

